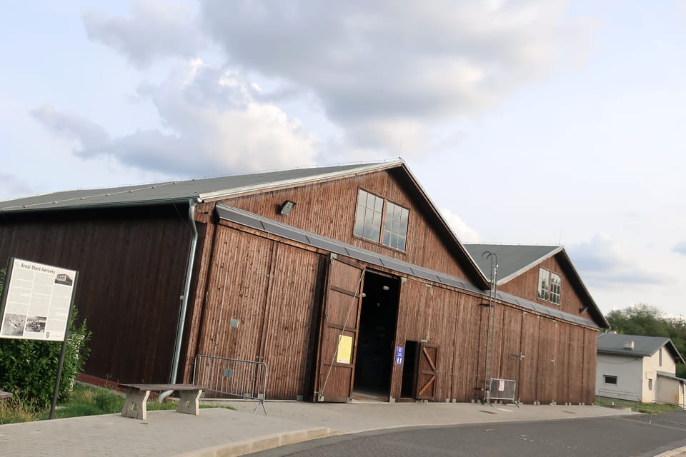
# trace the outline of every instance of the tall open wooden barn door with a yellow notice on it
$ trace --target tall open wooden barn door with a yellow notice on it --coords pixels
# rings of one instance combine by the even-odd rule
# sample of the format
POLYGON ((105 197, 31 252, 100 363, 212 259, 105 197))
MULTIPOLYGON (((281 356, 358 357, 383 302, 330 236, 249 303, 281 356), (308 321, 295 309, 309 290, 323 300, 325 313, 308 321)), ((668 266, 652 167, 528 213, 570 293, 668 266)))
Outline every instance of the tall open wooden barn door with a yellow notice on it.
POLYGON ((346 402, 352 396, 363 277, 364 267, 332 255, 319 331, 315 401, 346 402))

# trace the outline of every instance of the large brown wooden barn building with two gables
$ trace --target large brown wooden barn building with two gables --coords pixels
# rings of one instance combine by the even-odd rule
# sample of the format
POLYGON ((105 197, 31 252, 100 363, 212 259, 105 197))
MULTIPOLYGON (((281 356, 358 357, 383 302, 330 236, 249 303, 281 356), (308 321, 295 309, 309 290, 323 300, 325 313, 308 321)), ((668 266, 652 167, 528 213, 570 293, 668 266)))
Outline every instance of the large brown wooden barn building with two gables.
POLYGON ((607 322, 573 267, 549 268, 560 303, 533 276, 494 293, 402 160, 4 201, 11 257, 79 271, 110 381, 187 382, 202 354, 264 361, 267 398, 595 398, 607 322))

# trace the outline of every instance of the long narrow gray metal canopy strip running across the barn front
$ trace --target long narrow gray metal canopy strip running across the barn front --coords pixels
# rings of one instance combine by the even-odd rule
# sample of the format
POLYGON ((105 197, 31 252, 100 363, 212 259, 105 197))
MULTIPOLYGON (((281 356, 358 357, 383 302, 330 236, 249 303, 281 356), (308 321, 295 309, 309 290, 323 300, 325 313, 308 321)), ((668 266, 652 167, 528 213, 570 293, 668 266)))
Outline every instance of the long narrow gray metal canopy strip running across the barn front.
MULTIPOLYGON (((317 235, 317 233, 297 229, 296 227, 282 224, 281 222, 274 221, 273 219, 259 216, 242 209, 234 208, 233 206, 220 203, 217 204, 216 209, 219 218, 224 219, 225 221, 232 221, 243 226, 248 226, 252 227, 253 229, 271 233, 272 235, 282 236, 283 238, 287 238, 292 241, 297 241, 308 246, 321 248, 325 251, 337 253, 339 255, 354 258, 359 261, 364 261, 371 265, 389 268, 393 271, 397 271, 398 273, 404 273, 417 278, 427 279, 436 283, 459 288, 464 291, 479 293, 480 295, 484 296, 484 301, 487 299, 489 294, 489 291, 484 291, 477 286, 474 286, 472 283, 464 281, 464 279, 455 278, 454 276, 429 270, 429 268, 424 268, 412 263, 400 261, 396 258, 383 256, 382 254, 376 252, 367 251, 366 249, 358 248, 357 246, 352 246, 347 243, 342 243, 341 241, 336 241, 332 238, 317 235)), ((591 319, 587 319, 582 316, 574 316, 570 313, 549 308, 523 298, 517 298, 509 295, 508 293, 502 293, 498 291, 496 298, 500 301, 504 301, 505 303, 512 303, 514 305, 521 306, 522 308, 529 309, 530 311, 536 311, 562 321, 600 328, 597 323, 591 319)))

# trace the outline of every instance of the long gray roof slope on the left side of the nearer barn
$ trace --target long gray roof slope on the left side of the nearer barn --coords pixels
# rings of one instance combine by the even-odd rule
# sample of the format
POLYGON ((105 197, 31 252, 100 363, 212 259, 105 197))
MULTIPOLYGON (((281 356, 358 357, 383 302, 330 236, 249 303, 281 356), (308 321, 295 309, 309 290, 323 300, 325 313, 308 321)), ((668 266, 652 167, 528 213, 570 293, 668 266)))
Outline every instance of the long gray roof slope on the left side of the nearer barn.
POLYGON ((398 159, 372 164, 310 167, 269 171, 266 173, 236 174, 219 178, 110 187, 106 189, 78 189, 0 201, 0 212, 81 209, 101 206, 137 206, 142 204, 166 204, 188 201, 189 199, 196 199, 197 201, 217 200, 248 191, 304 184, 337 176, 392 168, 403 163, 402 159, 398 159))

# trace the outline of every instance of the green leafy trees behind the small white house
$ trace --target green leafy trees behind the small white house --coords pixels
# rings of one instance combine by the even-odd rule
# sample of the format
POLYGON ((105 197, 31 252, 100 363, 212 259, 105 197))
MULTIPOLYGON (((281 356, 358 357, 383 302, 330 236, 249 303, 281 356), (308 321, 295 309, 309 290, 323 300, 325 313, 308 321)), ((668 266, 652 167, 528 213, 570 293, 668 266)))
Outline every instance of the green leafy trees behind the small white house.
MULTIPOLYGON (((686 320, 682 317, 668 317, 655 306, 641 303, 629 308, 612 311, 607 321, 617 333, 641 336, 665 336, 682 356, 686 356, 686 320)), ((686 366, 677 364, 677 376, 686 378, 686 366)))

